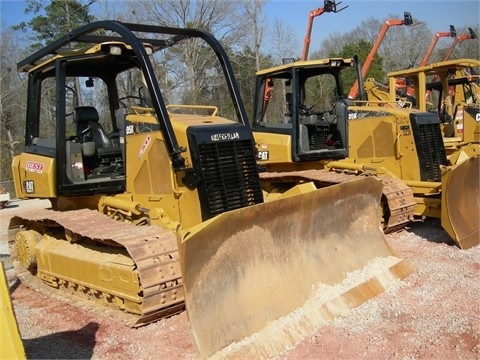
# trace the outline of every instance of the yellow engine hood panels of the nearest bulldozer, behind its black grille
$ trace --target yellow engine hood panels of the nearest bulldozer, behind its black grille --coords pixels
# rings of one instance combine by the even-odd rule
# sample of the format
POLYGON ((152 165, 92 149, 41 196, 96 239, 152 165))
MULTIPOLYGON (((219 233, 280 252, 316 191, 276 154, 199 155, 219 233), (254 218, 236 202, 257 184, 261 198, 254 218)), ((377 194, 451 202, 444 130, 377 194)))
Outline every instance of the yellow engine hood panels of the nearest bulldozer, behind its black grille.
MULTIPOLYGON (((204 107, 201 107, 202 109, 204 107)), ((140 111, 137 109, 137 113, 140 111)), ((127 121, 136 126, 140 123, 153 123, 151 114, 128 115, 127 121)), ((178 143, 187 151, 182 153, 186 166, 192 159, 186 136, 189 126, 231 124, 218 116, 172 114, 172 127, 178 143)), ((175 229, 178 224, 189 228, 202 221, 198 192, 183 185, 172 168, 170 156, 160 131, 146 131, 127 134, 126 193, 113 197, 138 202, 139 206, 150 209, 152 224, 175 229)))

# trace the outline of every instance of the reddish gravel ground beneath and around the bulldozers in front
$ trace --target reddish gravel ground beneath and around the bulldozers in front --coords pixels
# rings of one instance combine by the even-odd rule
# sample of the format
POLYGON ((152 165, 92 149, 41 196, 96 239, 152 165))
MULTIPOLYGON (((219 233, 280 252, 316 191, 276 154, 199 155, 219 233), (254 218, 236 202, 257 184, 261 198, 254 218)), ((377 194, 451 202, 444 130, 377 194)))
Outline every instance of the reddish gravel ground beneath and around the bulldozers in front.
MULTIPOLYGON (((196 359, 185 313, 127 328, 22 285, 8 255, 7 226, 23 209, 0 210, 0 259, 29 359, 196 359)), ((388 234, 415 271, 385 293, 318 329, 277 359, 480 359, 480 246, 460 250, 436 220, 388 234)))

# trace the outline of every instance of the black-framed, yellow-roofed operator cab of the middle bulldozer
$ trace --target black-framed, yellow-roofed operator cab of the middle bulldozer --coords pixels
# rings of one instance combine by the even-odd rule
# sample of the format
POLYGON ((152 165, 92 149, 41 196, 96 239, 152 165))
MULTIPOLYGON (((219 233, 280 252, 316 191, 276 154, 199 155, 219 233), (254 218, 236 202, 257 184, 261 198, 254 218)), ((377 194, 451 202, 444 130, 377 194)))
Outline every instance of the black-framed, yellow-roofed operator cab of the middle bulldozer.
POLYGON ((348 99, 340 72, 353 66, 348 60, 292 62, 258 72, 254 134, 290 135, 292 161, 346 157, 348 99))

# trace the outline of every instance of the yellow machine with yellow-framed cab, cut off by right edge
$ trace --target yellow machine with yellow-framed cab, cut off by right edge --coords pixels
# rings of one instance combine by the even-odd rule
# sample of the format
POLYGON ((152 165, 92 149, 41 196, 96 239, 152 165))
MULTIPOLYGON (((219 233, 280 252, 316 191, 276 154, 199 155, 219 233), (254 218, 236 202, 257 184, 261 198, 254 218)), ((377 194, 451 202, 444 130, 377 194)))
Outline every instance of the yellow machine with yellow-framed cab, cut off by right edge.
MULTIPOLYGON (((480 61, 441 61, 388 74, 390 86, 408 79, 415 92, 415 108, 438 114, 443 141, 452 165, 480 154, 480 61)), ((389 92, 390 99, 394 96, 389 92)))

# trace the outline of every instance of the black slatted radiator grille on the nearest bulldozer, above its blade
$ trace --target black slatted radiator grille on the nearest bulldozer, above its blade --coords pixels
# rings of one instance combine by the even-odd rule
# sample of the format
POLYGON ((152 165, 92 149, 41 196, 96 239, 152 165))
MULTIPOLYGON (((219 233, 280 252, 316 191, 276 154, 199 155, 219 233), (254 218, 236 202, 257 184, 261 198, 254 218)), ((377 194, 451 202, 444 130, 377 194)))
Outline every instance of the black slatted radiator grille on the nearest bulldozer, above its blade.
POLYGON ((204 221, 263 202, 249 128, 241 125, 190 127, 188 136, 193 167, 201 179, 197 191, 204 221), (218 141, 219 137, 227 140, 218 141))

